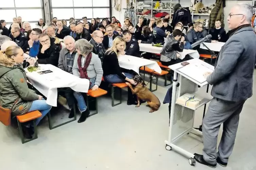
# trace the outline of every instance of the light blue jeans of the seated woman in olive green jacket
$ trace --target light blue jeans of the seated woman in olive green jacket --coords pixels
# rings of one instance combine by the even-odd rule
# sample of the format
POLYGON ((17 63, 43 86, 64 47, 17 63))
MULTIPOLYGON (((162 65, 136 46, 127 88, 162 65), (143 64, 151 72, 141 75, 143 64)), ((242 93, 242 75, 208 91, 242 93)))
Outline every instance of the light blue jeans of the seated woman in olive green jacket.
POLYGON ((42 120, 42 118, 44 118, 44 116, 51 110, 52 106, 48 105, 46 103, 45 99, 42 100, 34 100, 32 102, 32 105, 30 107, 30 109, 28 110, 28 112, 32 112, 35 110, 38 110, 42 113, 42 116, 40 118, 36 119, 36 125, 38 125, 38 123, 40 122, 40 120, 42 120))

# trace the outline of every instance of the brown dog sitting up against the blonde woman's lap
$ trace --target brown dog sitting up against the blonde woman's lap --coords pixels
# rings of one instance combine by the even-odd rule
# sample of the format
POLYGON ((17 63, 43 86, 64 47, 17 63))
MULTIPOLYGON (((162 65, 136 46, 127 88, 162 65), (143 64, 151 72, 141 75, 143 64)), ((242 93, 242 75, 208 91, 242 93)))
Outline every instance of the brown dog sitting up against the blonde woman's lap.
POLYGON ((136 75, 133 78, 133 80, 137 82, 137 85, 135 86, 135 88, 133 88, 132 85, 128 82, 126 82, 125 84, 127 84, 131 88, 131 91, 133 94, 137 95, 138 105, 136 105, 136 107, 140 106, 140 99, 141 99, 148 103, 147 107, 151 108, 151 110, 149 111, 150 113, 158 110, 161 105, 160 101, 155 94, 149 91, 149 89, 146 87, 146 84, 144 83, 142 78, 139 75, 136 75))

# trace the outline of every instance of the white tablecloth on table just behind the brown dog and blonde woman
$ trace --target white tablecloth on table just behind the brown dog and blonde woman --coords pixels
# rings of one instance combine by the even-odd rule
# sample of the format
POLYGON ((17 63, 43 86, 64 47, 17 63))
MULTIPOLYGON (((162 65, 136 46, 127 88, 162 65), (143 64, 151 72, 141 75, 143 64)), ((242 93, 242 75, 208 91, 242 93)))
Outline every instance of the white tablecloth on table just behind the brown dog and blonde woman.
POLYGON ((157 64, 157 62, 153 61, 153 60, 123 55, 118 58, 118 61, 119 61, 120 67, 125 68, 125 69, 134 70, 138 74, 139 74, 139 68, 141 66, 147 66, 150 69, 155 70, 158 73, 162 72, 162 70, 159 67, 159 65, 157 64))

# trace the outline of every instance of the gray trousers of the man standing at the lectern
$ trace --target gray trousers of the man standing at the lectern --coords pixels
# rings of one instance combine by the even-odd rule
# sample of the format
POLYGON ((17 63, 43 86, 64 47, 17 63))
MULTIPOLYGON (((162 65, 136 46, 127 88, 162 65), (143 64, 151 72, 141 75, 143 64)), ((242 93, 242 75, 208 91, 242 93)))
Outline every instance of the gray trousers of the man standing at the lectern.
POLYGON ((222 162, 228 162, 234 148, 239 114, 244 102, 229 102, 216 98, 210 102, 203 119, 203 156, 207 163, 216 164, 217 156, 222 162), (222 123, 223 132, 217 153, 217 139, 222 123))

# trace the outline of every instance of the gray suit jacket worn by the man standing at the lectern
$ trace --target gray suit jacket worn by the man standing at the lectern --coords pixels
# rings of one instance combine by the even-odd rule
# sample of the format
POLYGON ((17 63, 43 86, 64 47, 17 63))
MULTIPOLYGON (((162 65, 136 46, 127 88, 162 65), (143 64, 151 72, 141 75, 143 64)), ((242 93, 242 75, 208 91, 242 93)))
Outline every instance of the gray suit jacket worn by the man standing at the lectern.
POLYGON ((256 35, 252 27, 244 27, 222 46, 215 70, 207 77, 207 82, 213 85, 213 97, 238 102, 252 96, 255 44, 256 35))

